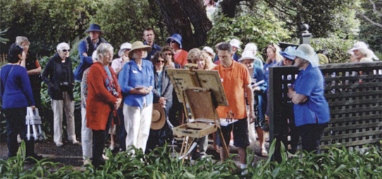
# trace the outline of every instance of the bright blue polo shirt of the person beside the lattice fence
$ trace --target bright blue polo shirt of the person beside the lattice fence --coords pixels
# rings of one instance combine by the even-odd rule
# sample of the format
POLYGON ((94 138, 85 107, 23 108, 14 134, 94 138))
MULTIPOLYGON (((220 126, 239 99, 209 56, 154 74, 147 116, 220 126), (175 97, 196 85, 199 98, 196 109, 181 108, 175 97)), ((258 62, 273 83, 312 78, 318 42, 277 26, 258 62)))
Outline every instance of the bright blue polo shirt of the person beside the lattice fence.
POLYGON ((331 117, 328 102, 324 98, 324 77, 319 67, 309 65, 307 69, 302 69, 294 86, 296 93, 308 98, 300 105, 293 105, 296 126, 328 123, 331 117))

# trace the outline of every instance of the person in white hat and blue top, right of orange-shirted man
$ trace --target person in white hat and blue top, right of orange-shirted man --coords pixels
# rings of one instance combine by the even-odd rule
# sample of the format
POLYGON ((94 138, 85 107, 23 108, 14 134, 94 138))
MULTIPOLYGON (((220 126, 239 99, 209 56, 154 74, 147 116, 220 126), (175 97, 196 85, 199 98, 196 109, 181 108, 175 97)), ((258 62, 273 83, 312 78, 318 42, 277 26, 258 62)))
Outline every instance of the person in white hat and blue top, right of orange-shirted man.
MULTIPOLYGON (((260 67, 254 66, 254 60, 256 58, 253 56, 252 51, 244 51, 242 52, 242 57, 239 58, 239 62, 241 62, 243 65, 245 65, 248 69, 249 74, 251 74, 252 77, 252 85, 255 83, 258 83, 259 81, 264 81, 264 72, 263 69, 260 67), (254 81, 256 80, 256 81, 254 81)), ((256 119, 254 120, 254 129, 256 130, 256 133, 259 137, 259 145, 261 148, 261 156, 265 157, 268 156, 268 152, 266 151, 265 147, 265 137, 264 137, 264 121, 265 121, 265 110, 266 110, 266 103, 264 100, 266 100, 266 83, 259 84, 258 86, 254 86, 254 99, 257 101, 257 104, 254 105, 254 107, 257 107, 257 115, 256 119)), ((249 130, 252 130, 252 128, 249 128, 249 130)))

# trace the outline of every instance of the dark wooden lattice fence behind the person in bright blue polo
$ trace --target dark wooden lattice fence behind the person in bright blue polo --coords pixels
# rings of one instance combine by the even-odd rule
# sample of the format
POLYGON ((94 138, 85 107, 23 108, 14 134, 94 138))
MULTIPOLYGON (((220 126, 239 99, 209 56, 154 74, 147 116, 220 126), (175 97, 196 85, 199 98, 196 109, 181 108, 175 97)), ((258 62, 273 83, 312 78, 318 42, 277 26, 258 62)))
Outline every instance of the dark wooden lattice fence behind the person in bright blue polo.
MULTIPOLYGON (((382 62, 321 65, 325 98, 331 121, 324 130, 320 148, 332 145, 362 148, 382 140, 382 62)), ((290 152, 300 149, 294 124, 288 84, 295 81, 296 67, 269 70, 270 138, 282 141, 290 152)), ((280 156, 276 145, 276 160, 280 156)))

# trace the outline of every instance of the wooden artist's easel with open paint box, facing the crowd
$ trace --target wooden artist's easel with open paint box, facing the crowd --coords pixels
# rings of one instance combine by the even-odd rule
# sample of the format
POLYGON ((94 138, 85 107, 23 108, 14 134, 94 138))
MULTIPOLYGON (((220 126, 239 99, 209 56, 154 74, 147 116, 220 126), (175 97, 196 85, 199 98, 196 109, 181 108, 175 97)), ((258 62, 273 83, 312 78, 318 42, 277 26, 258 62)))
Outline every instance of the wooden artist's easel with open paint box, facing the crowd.
MULTIPOLYGON (((217 71, 195 70, 194 67, 190 67, 189 69, 167 69, 167 72, 179 101, 183 102, 185 112, 187 112, 188 105, 192 118, 195 119, 190 122, 187 118, 187 124, 173 129, 175 135, 184 136, 180 149, 180 159, 184 160, 186 155, 190 157, 197 138, 202 138, 215 131, 223 136, 216 107, 218 105, 228 106, 228 102, 217 71), (203 122, 198 119, 202 119, 203 122)), ((220 139, 223 150, 228 156, 226 142, 223 137, 220 139)))

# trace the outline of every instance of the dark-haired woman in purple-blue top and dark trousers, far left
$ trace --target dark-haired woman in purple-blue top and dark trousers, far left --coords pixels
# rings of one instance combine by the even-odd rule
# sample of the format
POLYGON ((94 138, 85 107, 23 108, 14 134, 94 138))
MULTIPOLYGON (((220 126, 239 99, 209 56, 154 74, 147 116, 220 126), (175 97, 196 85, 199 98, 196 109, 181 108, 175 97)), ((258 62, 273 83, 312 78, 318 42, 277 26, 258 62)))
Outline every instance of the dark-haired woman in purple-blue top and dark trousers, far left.
POLYGON ((26 157, 35 157, 39 160, 42 157, 35 154, 33 140, 26 140, 27 106, 31 106, 35 110, 35 100, 33 100, 27 69, 20 66, 20 62, 25 58, 26 53, 23 48, 12 44, 7 59, 9 63, 1 67, 0 71, 2 108, 6 114, 8 157, 16 156, 18 151, 16 138, 20 133, 21 138, 25 140, 26 157))

